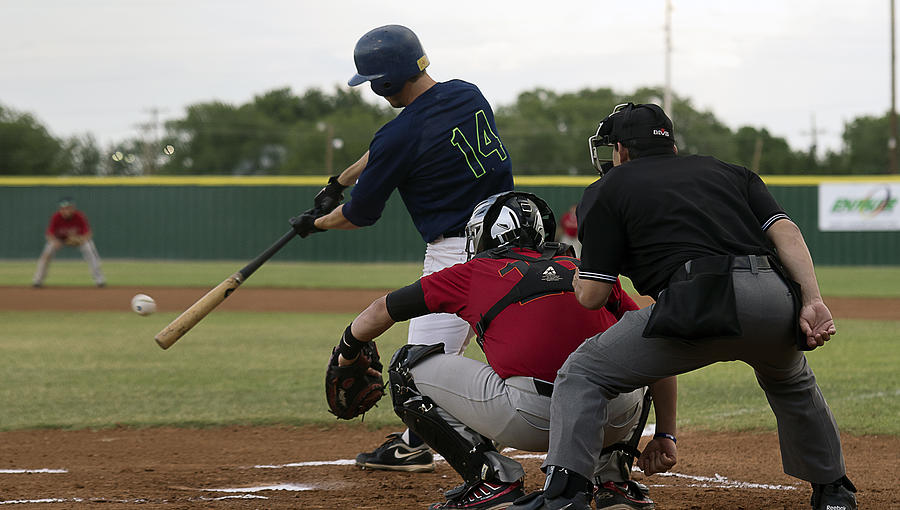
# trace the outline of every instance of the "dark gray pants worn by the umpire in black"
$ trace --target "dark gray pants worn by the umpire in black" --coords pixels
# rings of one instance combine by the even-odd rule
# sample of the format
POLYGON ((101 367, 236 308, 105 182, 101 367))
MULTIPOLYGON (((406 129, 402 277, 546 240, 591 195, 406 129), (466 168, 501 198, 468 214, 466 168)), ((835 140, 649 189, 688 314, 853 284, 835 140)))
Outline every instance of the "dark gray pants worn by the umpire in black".
POLYGON ((753 367, 778 421, 784 472, 814 483, 842 477, 838 428, 806 356, 795 347, 790 292, 771 269, 733 270, 740 337, 702 340, 644 338, 651 307, 628 312, 588 339, 560 368, 551 405, 545 466, 589 475, 603 444, 596 434, 620 393, 719 361, 753 367))

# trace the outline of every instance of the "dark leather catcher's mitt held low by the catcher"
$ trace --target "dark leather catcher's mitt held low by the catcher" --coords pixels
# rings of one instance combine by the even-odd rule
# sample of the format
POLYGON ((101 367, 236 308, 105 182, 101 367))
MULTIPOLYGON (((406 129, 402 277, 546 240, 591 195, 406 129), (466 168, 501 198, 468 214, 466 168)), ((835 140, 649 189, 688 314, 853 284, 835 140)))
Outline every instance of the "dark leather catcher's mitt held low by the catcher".
POLYGON ((325 372, 328 409, 342 420, 352 420, 371 409, 384 396, 381 358, 375 342, 366 342, 352 365, 338 366, 335 347, 325 372))

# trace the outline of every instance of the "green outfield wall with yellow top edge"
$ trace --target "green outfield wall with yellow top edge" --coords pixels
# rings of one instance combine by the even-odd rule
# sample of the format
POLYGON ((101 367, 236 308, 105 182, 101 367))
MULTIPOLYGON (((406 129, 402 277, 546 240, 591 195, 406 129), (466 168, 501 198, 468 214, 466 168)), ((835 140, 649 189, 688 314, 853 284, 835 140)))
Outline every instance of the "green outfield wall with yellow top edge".
MULTIPOLYGON (((804 232, 813 258, 828 265, 900 265, 900 232, 820 232, 821 182, 900 182, 896 177, 763 177, 804 232)), ((0 258, 37 258, 62 196, 75 199, 103 258, 254 257, 312 204, 326 177, 0 177, 0 258)), ((544 198, 557 217, 591 177, 519 177, 518 189, 544 198)), ((397 193, 373 227, 297 239, 276 260, 417 261, 424 242, 397 193)), ((63 250, 62 257, 78 257, 63 250)))

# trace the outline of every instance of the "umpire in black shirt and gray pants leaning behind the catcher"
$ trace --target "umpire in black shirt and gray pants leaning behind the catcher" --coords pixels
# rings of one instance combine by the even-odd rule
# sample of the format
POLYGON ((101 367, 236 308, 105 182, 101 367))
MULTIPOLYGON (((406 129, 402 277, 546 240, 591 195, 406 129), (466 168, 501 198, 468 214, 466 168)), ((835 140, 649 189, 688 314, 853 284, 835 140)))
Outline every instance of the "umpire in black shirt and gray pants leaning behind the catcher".
MULTIPOLYGON (((836 330, 797 226, 756 174, 706 156, 677 156, 672 121, 653 104, 619 105, 590 138, 602 179, 578 206, 582 266, 575 294, 604 305, 619 274, 655 305, 589 338, 560 369, 551 404, 543 494, 515 509, 589 508, 609 399, 720 361, 753 367, 778 421, 784 472, 812 484, 814 509, 850 510, 831 410, 802 350, 836 330), (597 149, 612 147, 612 161, 597 149), (604 175, 605 172, 605 175, 604 175)), ((675 430, 658 430, 674 464, 675 430)))

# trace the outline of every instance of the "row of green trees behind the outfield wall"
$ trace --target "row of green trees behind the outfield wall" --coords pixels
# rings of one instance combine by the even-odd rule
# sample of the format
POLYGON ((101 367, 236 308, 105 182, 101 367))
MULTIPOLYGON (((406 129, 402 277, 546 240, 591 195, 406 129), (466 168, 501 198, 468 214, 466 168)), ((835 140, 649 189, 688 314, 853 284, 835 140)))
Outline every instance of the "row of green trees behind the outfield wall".
MULTIPOLYGON (((608 88, 556 93, 536 89, 496 107, 500 137, 517 175, 592 174, 587 137, 625 101, 661 103, 662 91, 622 95, 608 88)), ((880 174, 889 168, 889 115, 863 116, 843 127, 843 147, 824 156, 792 149, 765 128, 732 130, 690 99, 674 96, 682 154, 709 154, 760 174, 880 174)), ((218 101, 187 107, 159 139, 129 138, 100 147, 90 134, 60 139, 33 115, 0 104, 0 175, 322 175, 362 155, 398 110, 363 99, 357 89, 332 93, 280 88, 241 105, 218 101)))

